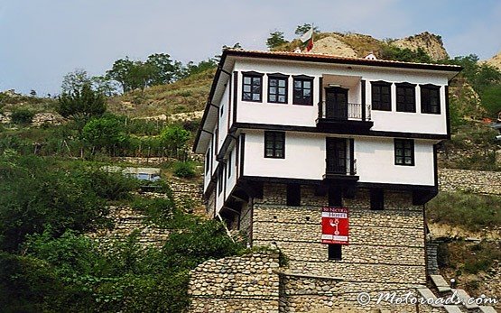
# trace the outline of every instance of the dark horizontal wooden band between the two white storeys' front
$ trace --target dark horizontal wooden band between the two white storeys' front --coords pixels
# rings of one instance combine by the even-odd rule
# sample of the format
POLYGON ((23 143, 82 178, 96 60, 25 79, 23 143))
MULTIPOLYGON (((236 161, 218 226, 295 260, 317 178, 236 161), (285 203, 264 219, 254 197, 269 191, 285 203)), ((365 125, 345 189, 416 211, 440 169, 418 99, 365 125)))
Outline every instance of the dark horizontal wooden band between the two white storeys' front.
POLYGON ((290 131, 290 132, 302 132, 302 133, 337 133, 337 134, 358 134, 366 136, 376 136, 376 137, 392 137, 392 138, 413 138, 413 139, 432 139, 432 140, 442 140, 447 139, 446 134, 440 133, 401 133, 401 132, 385 132, 385 131, 360 131, 357 128, 344 129, 319 129, 318 127, 310 126, 294 126, 294 125, 283 125, 283 124, 257 124, 257 123, 235 123, 232 128, 245 128, 245 129, 263 129, 271 131, 290 131))

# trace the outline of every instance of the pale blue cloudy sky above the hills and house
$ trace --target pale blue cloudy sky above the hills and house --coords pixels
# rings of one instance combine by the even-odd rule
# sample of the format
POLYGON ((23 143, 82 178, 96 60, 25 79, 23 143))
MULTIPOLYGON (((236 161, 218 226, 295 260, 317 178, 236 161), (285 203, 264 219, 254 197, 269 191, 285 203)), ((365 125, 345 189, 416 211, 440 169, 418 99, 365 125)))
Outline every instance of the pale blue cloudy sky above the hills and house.
POLYGON ((102 75, 115 60, 168 53, 198 62, 223 45, 266 50, 297 25, 378 39, 428 31, 450 56, 501 51, 499 0, 0 0, 0 90, 60 92, 75 69, 102 75))

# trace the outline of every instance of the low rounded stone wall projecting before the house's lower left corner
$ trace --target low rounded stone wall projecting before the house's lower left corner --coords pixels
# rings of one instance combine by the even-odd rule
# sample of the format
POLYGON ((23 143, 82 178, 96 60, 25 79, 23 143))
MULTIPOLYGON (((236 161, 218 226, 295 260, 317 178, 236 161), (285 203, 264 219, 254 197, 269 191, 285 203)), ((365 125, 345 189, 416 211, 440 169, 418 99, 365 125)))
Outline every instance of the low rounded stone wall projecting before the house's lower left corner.
POLYGON ((278 312, 278 252, 209 260, 190 272, 190 312, 278 312))

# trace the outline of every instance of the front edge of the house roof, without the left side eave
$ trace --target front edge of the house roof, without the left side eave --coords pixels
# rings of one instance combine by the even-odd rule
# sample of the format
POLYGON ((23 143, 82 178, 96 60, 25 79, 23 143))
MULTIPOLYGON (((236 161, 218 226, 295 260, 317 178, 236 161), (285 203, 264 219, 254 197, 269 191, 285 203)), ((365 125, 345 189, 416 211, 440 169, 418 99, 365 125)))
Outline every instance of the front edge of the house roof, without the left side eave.
POLYGON ((224 60, 227 56, 277 59, 277 60, 302 60, 333 64, 353 64, 376 67, 405 68, 405 69, 432 69, 459 72, 462 67, 450 64, 414 63, 395 60, 370 60, 365 58, 341 57, 323 53, 303 53, 287 51, 245 51, 241 49, 227 49, 223 52, 224 60))

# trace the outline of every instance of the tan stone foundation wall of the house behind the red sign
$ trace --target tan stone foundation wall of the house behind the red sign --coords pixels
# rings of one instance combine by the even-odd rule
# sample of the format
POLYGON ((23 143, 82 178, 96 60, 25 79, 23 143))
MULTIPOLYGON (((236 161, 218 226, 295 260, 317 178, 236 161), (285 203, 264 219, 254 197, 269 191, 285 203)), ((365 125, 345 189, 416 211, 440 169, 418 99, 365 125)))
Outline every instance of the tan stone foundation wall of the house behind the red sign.
MULTIPOLYGON (((371 210, 368 190, 343 199, 349 208, 350 244, 342 260, 328 260, 328 245, 320 244, 320 207, 327 196, 302 186, 302 206, 288 207, 285 185, 264 185, 263 199, 254 199, 253 245, 276 245, 288 258, 281 268, 281 312, 343 312, 416 308, 376 302, 362 307, 360 292, 404 294, 426 283, 422 206, 413 206, 410 192, 385 190, 385 209, 371 210)), ((427 311, 422 308, 421 312, 427 311)))

